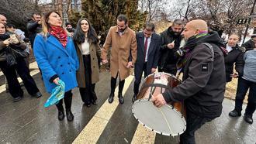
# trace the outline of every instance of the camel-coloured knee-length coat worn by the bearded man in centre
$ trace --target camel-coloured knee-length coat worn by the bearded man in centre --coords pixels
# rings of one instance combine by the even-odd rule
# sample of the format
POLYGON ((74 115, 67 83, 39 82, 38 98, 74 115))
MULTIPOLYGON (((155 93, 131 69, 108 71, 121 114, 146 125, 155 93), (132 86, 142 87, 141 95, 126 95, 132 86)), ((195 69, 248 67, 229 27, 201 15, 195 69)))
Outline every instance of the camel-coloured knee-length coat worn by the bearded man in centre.
POLYGON ((122 36, 119 36, 117 26, 109 29, 106 42, 102 49, 102 59, 107 59, 107 53, 111 47, 110 72, 112 77, 116 77, 119 72, 121 81, 130 75, 130 68, 127 68, 128 59, 132 57, 133 64, 137 58, 137 41, 135 32, 127 28, 122 36))

